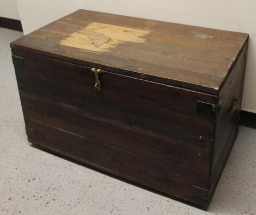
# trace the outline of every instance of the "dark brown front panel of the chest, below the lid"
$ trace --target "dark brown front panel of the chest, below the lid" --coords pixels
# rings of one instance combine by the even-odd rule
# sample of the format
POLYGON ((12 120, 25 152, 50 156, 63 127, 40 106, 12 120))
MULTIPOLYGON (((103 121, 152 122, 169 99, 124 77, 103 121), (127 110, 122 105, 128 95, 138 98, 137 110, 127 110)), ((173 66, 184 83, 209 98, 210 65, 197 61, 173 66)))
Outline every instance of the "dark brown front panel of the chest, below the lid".
POLYGON ((13 55, 30 141, 176 197, 208 188, 214 116, 197 104, 215 96, 106 71, 96 91, 89 67, 13 55))

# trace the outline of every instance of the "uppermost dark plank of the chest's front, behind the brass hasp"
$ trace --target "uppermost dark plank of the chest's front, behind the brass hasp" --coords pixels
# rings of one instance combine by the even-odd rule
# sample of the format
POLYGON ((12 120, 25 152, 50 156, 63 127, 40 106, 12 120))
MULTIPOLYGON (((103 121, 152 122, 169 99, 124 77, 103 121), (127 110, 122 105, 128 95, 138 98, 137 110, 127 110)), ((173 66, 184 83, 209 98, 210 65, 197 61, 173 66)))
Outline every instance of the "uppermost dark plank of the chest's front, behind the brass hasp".
MULTIPOLYGON (((150 122, 152 120, 150 116, 154 116, 157 110, 160 118, 157 119, 159 122, 155 121, 154 129, 157 129, 157 125, 161 122, 169 122, 173 127, 181 130, 190 128, 192 133, 196 130, 194 125, 201 126, 202 132, 211 130, 209 117, 200 115, 196 111, 197 100, 214 104, 215 96, 109 72, 101 74, 102 90, 97 92, 93 87, 94 74, 90 72, 90 68, 29 54, 25 55, 25 64, 28 68, 26 73, 17 74, 21 86, 23 85, 22 91, 51 98, 56 102, 76 106, 83 110, 88 109, 92 113, 104 114, 107 118, 114 118, 128 125, 133 124, 139 127, 139 124, 144 121, 150 122), (38 67, 38 65, 41 66, 38 67), (61 81, 59 81, 60 78, 61 81), (41 87, 38 86, 39 84, 41 87), (169 100, 166 100, 167 97, 169 100), (185 104, 184 101, 186 101, 185 104), (91 104, 93 108, 86 104, 91 104), (115 109, 111 110, 112 108, 115 109), (102 110, 107 109, 108 112, 102 113, 102 110), (127 116, 120 115, 120 111, 124 110, 127 116), (143 112, 138 121, 136 118, 139 110, 143 112), (191 114, 193 117, 190 116, 191 114), (179 119, 182 116, 186 118, 179 119)), ((148 124, 149 127, 151 123, 148 124)), ((172 132, 160 127, 159 131, 168 136, 172 132)))

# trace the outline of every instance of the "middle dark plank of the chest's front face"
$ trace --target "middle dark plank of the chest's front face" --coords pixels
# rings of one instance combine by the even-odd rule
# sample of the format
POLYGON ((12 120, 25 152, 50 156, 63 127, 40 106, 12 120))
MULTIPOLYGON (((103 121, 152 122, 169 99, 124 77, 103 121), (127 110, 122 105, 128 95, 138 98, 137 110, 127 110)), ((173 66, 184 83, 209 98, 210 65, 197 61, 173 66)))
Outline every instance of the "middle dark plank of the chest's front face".
POLYGON ((21 93, 21 100, 26 106, 24 112, 27 118, 209 179, 210 151, 203 144, 192 144, 192 141, 185 144, 175 138, 163 138, 154 132, 125 127, 93 117, 80 109, 40 97, 32 98, 24 93, 21 93))

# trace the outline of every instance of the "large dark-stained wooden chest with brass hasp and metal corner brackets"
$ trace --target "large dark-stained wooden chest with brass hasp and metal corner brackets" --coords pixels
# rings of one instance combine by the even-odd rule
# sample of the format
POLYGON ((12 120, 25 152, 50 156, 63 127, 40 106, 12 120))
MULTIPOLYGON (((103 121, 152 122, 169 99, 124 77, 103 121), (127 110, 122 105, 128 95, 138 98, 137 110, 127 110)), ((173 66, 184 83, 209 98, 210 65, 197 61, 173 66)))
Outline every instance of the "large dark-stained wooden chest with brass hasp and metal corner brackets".
POLYGON ((248 35, 78 10, 11 43, 28 140, 207 207, 248 35))

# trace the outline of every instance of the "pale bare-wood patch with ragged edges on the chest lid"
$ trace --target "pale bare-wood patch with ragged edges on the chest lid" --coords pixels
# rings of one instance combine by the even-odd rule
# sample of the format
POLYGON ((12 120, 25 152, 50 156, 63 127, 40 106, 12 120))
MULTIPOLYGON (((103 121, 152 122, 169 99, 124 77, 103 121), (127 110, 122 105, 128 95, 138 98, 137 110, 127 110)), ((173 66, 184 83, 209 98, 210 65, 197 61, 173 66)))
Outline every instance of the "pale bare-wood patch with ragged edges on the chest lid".
POLYGON ((144 36, 149 30, 140 30, 92 22, 82 30, 71 34, 59 43, 79 49, 86 49, 93 52, 108 52, 120 43, 145 42, 144 36))

